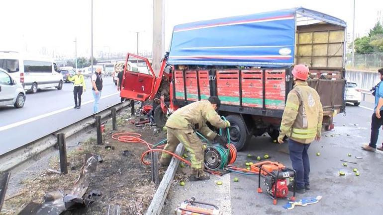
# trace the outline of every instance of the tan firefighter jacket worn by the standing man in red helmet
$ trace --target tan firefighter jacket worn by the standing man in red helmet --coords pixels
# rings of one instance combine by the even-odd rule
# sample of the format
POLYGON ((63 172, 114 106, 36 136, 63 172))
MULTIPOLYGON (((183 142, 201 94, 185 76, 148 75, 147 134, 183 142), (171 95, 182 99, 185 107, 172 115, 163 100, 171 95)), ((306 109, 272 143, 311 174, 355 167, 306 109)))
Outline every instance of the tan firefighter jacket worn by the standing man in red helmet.
POLYGON ((282 117, 280 138, 289 137, 298 143, 311 143, 320 136, 323 109, 320 97, 306 81, 297 80, 288 93, 282 117))

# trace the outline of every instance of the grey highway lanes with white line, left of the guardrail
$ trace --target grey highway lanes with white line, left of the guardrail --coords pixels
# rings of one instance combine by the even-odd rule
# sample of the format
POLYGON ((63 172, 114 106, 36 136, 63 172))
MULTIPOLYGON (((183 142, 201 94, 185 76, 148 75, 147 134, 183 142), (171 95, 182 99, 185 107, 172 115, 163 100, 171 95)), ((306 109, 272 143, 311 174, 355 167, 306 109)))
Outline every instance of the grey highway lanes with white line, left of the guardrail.
MULTIPOLYGON (((42 89, 27 94, 25 106, 0 107, 0 155, 30 143, 93 114, 91 79, 82 96, 81 109, 73 109, 73 84, 64 83, 62 90, 42 89)), ((103 88, 98 110, 120 102, 111 77, 103 78, 103 88)))

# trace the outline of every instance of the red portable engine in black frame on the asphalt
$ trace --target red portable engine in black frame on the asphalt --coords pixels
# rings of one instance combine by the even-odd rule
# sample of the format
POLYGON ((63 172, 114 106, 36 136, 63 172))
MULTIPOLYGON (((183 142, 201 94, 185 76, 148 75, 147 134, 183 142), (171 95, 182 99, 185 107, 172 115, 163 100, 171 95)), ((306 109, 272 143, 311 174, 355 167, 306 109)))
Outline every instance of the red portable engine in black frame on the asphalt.
MULTIPOLYGON (((264 186, 266 187, 266 194, 273 199, 273 204, 277 205, 278 198, 287 198, 288 187, 287 179, 293 178, 293 194, 289 198, 295 200, 295 176, 296 172, 293 169, 287 168, 279 162, 264 161, 256 163, 255 167, 258 168, 258 193, 262 193, 261 188, 261 175, 264 176, 264 186)), ((253 164, 255 165, 255 164, 253 164)))

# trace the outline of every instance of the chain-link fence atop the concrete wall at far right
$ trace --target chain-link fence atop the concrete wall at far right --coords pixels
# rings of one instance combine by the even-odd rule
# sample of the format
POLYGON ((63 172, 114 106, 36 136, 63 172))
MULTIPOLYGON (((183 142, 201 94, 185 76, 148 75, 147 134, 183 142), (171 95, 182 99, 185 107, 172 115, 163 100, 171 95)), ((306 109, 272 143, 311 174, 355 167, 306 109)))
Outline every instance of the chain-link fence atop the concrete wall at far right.
POLYGON ((383 67, 383 52, 355 54, 354 58, 355 60, 353 66, 352 55, 347 54, 347 69, 377 70, 383 67))

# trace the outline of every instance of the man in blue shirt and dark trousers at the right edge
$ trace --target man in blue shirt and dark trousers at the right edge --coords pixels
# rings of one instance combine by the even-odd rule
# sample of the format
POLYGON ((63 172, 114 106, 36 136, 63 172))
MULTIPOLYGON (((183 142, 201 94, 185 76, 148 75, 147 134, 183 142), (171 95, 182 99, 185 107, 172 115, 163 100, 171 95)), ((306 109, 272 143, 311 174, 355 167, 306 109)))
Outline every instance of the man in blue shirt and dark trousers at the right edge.
POLYGON ((373 116, 371 117, 370 143, 362 146, 362 148, 367 151, 376 151, 376 149, 383 151, 383 143, 382 146, 377 147, 379 129, 383 125, 383 68, 379 69, 378 72, 381 82, 378 83, 373 92, 373 95, 375 95, 375 108, 373 116))

